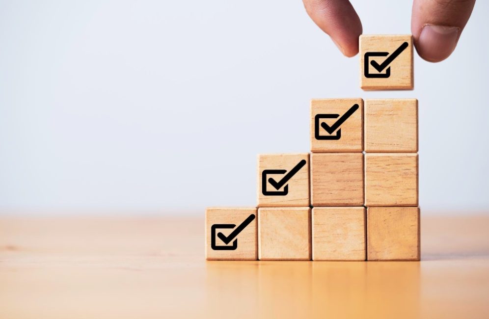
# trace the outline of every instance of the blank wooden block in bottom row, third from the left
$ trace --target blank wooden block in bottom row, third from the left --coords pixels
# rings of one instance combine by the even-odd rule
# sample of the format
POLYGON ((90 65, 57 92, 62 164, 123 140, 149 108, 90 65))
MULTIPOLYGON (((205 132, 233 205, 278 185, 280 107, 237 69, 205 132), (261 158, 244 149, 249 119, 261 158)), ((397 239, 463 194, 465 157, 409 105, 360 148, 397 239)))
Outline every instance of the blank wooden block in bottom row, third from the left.
POLYGON ((312 209, 312 260, 364 261, 365 208, 312 209))

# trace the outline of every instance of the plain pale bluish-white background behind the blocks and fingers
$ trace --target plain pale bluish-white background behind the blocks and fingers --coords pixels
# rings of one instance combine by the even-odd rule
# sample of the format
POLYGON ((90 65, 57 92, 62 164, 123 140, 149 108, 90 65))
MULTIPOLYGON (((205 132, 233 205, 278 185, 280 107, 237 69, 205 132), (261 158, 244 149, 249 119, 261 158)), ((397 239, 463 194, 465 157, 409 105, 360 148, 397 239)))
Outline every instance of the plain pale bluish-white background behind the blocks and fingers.
MULTIPOLYGON (((355 0, 364 33, 411 1, 355 0), (379 9, 381 8, 381 9, 379 9)), ((309 99, 419 99, 424 213, 489 212, 488 1, 415 90, 363 92, 301 1, 0 1, 0 212, 256 204, 256 155, 309 151, 309 99)))

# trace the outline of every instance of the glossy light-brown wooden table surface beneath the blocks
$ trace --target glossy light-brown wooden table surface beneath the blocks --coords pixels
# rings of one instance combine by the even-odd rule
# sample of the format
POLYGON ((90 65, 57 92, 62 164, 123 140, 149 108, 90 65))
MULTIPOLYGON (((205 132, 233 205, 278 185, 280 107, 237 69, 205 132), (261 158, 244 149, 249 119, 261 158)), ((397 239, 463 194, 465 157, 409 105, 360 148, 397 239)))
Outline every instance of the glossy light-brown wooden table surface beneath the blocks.
POLYGON ((421 229, 421 262, 206 262, 203 218, 2 217, 0 318, 489 318, 489 216, 421 229))

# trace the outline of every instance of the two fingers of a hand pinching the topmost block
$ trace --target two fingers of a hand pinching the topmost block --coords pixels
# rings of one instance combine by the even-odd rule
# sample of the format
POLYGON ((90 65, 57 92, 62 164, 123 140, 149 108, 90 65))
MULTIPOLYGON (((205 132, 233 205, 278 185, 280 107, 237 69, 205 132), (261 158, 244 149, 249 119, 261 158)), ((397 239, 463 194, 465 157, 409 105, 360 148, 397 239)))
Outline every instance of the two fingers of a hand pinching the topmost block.
MULTIPOLYGON (((307 13, 346 56, 358 53, 360 18, 349 0, 303 0, 307 13)), ((414 0, 411 33, 425 60, 446 59, 457 46, 475 0, 414 0)))

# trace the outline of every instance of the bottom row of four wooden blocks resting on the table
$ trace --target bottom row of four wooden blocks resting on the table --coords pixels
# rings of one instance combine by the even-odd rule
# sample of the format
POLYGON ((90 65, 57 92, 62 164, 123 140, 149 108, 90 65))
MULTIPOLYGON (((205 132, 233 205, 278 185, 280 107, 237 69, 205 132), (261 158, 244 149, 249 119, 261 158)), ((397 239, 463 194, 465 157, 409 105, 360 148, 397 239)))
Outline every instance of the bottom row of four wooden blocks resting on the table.
POLYGON ((416 261, 419 208, 209 208, 206 258, 416 261))

